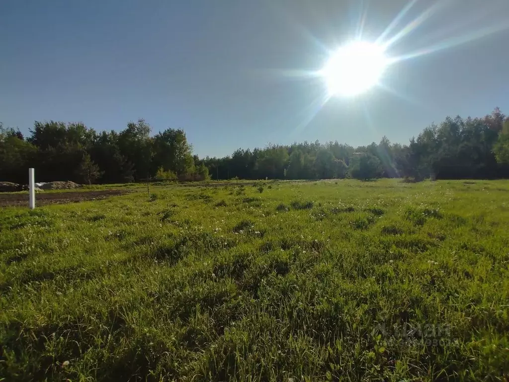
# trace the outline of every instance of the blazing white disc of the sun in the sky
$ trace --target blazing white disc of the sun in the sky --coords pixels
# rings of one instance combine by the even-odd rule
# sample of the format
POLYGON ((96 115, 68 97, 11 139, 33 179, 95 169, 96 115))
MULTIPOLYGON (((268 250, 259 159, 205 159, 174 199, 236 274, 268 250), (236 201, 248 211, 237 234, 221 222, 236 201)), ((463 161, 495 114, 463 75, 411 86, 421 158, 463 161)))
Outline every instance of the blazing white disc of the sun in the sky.
POLYGON ((330 95, 351 97, 376 85, 387 64, 382 47, 355 41, 335 51, 320 74, 330 95))

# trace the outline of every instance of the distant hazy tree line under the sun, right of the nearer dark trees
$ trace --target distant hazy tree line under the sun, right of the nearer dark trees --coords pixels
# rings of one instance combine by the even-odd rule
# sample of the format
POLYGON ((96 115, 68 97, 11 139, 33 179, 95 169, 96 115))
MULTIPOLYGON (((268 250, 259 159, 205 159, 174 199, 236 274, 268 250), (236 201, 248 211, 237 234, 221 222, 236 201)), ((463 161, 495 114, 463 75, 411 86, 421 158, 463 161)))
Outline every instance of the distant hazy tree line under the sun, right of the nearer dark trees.
POLYGON ((216 179, 374 179, 413 181, 509 177, 509 118, 499 108, 482 118, 446 118, 407 145, 353 147, 337 141, 238 149, 231 156, 205 158, 216 179))

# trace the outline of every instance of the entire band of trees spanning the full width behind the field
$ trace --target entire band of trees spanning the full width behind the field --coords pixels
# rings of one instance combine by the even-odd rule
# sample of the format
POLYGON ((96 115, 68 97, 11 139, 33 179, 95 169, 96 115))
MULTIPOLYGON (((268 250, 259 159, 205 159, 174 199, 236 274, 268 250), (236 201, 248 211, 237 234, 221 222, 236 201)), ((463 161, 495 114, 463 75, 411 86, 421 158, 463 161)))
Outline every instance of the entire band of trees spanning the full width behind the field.
POLYGON ((199 158, 180 129, 151 135, 143 119, 120 131, 96 132, 82 123, 35 122, 28 137, 0 123, 0 180, 123 183, 151 179, 374 179, 413 181, 509 177, 509 117, 498 108, 482 118, 446 118, 407 145, 385 137, 353 147, 337 141, 238 149, 199 158))

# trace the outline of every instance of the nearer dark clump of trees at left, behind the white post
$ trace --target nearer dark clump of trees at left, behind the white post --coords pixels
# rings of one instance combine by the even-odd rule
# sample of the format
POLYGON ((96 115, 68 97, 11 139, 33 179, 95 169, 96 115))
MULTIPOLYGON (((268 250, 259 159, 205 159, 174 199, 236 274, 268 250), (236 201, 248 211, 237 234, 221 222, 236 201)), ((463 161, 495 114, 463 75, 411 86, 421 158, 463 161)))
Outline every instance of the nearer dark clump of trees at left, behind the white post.
POLYGON ((96 132, 82 123, 35 122, 24 138, 19 130, 0 126, 0 180, 26 182, 34 167, 38 181, 124 183, 147 178, 209 179, 203 161, 180 129, 153 136, 143 119, 116 132, 96 132))

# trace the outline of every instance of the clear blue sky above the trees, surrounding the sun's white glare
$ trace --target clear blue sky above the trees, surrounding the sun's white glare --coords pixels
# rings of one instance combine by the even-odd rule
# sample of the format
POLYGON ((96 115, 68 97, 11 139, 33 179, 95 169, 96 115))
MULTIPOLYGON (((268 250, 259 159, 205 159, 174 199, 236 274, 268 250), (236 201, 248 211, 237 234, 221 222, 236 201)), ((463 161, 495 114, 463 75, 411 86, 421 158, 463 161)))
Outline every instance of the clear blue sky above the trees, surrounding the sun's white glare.
POLYGON ((407 4, 3 0, 0 121, 27 133, 35 120, 120 131, 145 118, 222 156, 269 142, 406 143, 447 115, 509 113, 507 0, 416 1, 387 54, 441 49, 389 67, 385 89, 320 104, 323 81, 306 73, 360 30, 378 38, 407 4))

